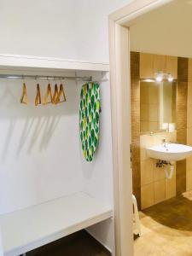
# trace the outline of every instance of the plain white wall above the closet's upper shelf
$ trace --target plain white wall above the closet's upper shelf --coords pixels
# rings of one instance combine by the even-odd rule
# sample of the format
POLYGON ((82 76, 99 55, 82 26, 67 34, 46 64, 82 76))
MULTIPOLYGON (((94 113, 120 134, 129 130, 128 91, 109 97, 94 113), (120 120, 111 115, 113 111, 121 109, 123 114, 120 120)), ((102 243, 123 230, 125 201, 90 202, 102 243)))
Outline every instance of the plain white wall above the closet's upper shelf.
POLYGON ((108 14, 131 0, 0 0, 0 54, 108 62, 108 14))

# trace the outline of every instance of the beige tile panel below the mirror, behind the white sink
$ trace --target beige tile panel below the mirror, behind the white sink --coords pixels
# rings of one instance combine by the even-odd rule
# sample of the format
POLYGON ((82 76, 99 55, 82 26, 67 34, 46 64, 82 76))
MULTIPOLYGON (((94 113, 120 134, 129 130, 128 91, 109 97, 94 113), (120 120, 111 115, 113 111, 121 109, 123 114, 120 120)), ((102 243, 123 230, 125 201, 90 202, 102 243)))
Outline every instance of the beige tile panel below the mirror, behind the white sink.
POLYGON ((172 179, 167 179, 164 168, 156 167, 156 160, 148 158, 146 152, 146 148, 162 143, 163 139, 176 142, 176 131, 140 136, 142 209, 176 195, 176 172, 172 179))

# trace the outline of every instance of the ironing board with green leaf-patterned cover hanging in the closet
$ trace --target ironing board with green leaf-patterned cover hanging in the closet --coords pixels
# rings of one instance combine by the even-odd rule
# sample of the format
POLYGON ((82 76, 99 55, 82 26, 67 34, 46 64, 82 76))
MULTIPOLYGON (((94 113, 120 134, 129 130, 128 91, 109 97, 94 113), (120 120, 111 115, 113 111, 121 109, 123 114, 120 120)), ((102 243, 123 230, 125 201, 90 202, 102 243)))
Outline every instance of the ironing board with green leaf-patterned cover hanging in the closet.
POLYGON ((99 142, 100 87, 96 83, 86 83, 80 94, 79 129, 85 160, 93 160, 99 142))

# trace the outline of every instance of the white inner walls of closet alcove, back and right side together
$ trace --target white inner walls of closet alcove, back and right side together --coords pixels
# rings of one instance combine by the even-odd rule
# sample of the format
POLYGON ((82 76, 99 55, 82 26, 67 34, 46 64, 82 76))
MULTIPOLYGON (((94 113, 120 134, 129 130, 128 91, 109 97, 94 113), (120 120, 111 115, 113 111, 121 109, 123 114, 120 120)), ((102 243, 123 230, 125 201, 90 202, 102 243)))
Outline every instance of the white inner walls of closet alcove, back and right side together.
MULTIPOLYGON (((79 75, 105 79, 103 73, 79 75)), ((48 82, 26 81, 29 106, 20 104, 22 82, 0 81, 0 214, 78 191, 113 205, 109 81, 101 83, 101 137, 91 163, 84 160, 79 143, 79 95, 83 82, 64 83, 67 102, 38 107, 34 106, 36 84, 40 83, 43 99, 48 82)), ((89 231, 113 250, 113 220, 89 231)))

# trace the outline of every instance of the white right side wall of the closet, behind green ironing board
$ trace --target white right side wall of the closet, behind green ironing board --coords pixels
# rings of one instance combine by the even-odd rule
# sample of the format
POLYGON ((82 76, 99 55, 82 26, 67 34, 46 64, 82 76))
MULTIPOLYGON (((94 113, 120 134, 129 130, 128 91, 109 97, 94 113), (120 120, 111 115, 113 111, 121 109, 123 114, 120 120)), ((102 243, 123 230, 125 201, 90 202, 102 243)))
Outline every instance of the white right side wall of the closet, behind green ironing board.
MULTIPOLYGON (((86 73, 81 73, 85 75, 86 73)), ((93 79, 106 79, 95 73, 93 79)), ((84 192, 113 206, 113 166, 109 81, 101 83, 100 141, 94 160, 87 163, 81 158, 84 192)), ((114 253, 114 224, 108 219, 96 224, 88 232, 114 253)), ((113 254, 114 255, 114 254, 113 254)))

